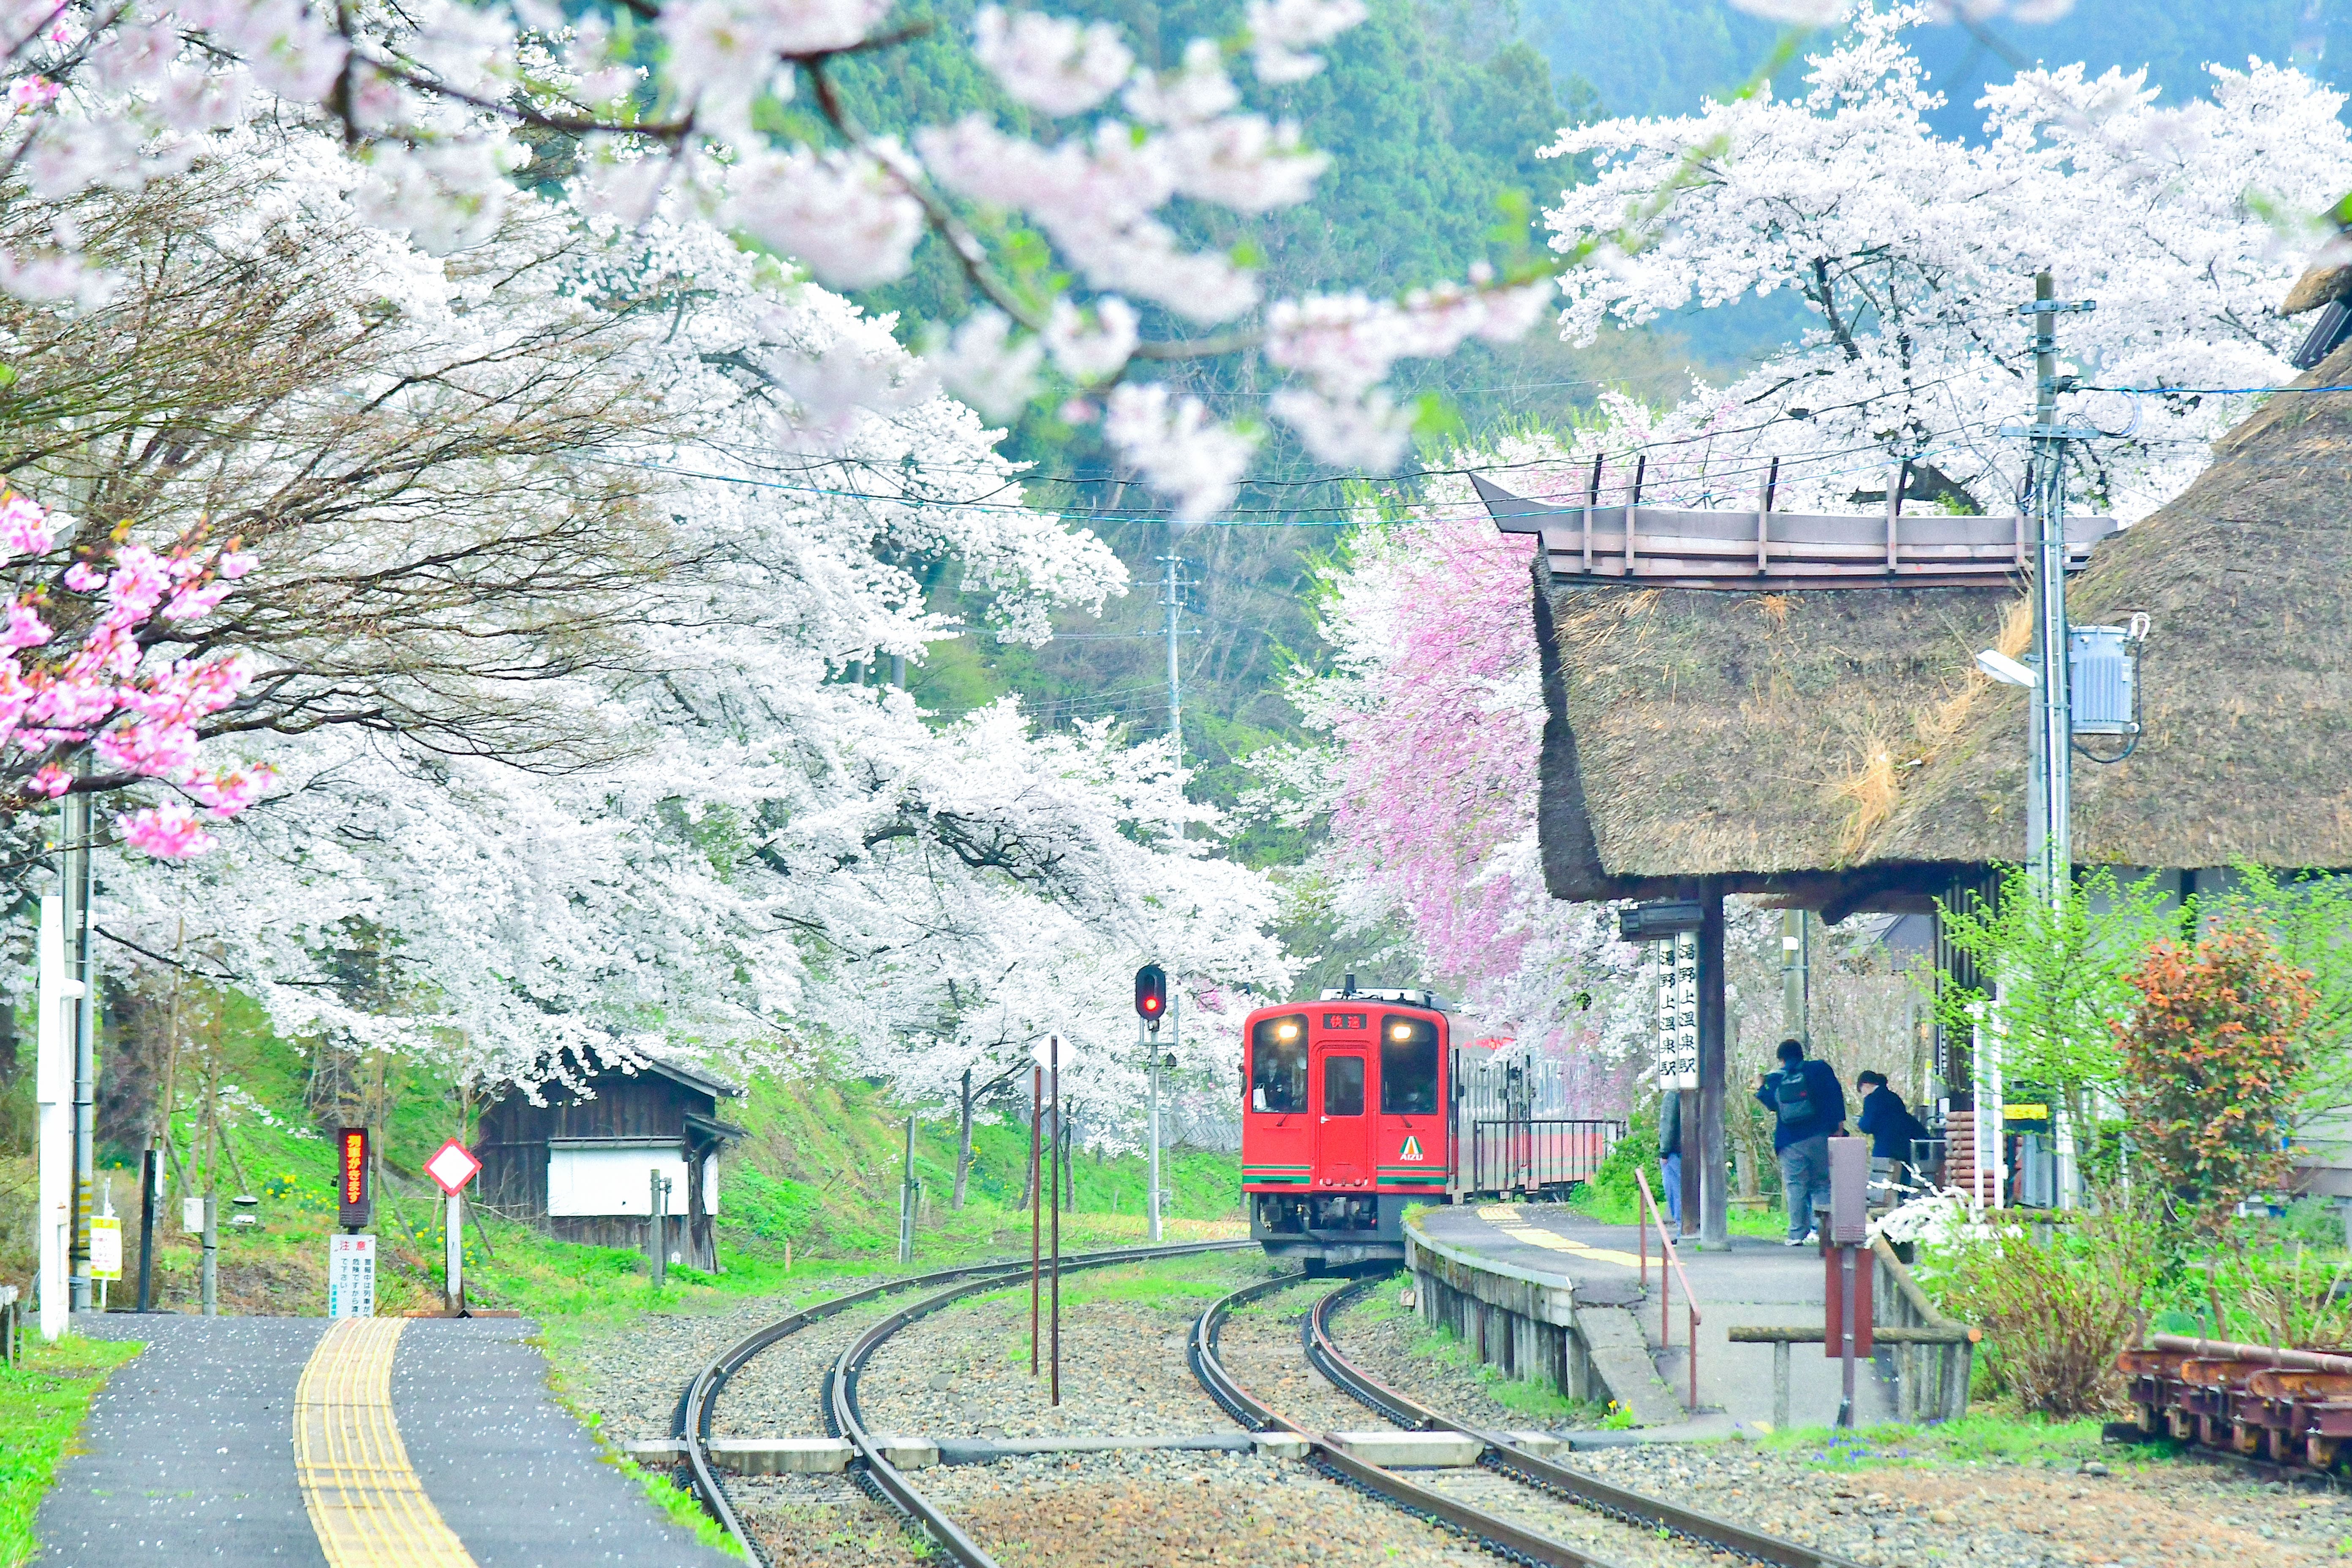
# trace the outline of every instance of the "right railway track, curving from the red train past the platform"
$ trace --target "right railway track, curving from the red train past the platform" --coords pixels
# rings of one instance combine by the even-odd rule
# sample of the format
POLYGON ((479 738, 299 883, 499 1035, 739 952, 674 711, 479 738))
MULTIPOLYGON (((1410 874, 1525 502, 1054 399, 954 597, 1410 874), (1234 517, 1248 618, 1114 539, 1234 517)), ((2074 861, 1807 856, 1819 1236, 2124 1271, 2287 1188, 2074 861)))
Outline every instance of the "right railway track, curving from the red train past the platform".
MULTIPOLYGON (((1301 1279, 1301 1274, 1284 1274, 1263 1284, 1244 1286, 1214 1302, 1192 1324, 1188 1356, 1192 1375, 1200 1378, 1204 1389, 1209 1389, 1211 1399, 1225 1406, 1225 1410, 1251 1432, 1289 1432, 1305 1439, 1310 1462, 1334 1479, 1357 1486, 1406 1512, 1421 1514, 1423 1519, 1461 1530, 1489 1552, 1496 1552, 1515 1563, 1548 1563, 1552 1568, 1621 1568, 1618 1559, 1597 1554, 1590 1547, 1543 1535, 1541 1530, 1534 1530, 1505 1514, 1475 1507, 1472 1502, 1451 1497, 1444 1490, 1423 1486, 1421 1481, 1402 1476, 1392 1469, 1367 1465, 1331 1443, 1324 1434, 1298 1427, 1244 1389, 1218 1359, 1218 1333, 1225 1316, 1235 1307, 1294 1288, 1301 1279)), ((1729 1552, 1738 1559, 1769 1563, 1773 1568, 1856 1568, 1849 1559, 1830 1552, 1820 1552, 1780 1535, 1769 1535, 1764 1530, 1750 1530, 1748 1526, 1729 1519, 1717 1519, 1715 1514, 1682 1507, 1679 1502, 1668 1502, 1665 1497, 1651 1497, 1649 1493, 1611 1486, 1609 1481, 1569 1469, 1566 1465, 1555 1465, 1552 1460, 1519 1448, 1508 1434, 1484 1432, 1468 1422, 1449 1420, 1411 1396, 1390 1389, 1362 1368, 1352 1366, 1331 1338, 1331 1312, 1348 1298, 1371 1288, 1371 1284, 1374 1281, 1362 1279, 1324 1295, 1308 1314, 1301 1340, 1308 1361, 1322 1375, 1376 1410, 1381 1418, 1404 1427, 1406 1432, 1463 1432, 1486 1446, 1482 1465, 1496 1474, 1519 1481, 1522 1486, 1529 1486, 1548 1497, 1592 1509, 1613 1519, 1625 1530, 1644 1533, 1649 1540, 1665 1535, 1708 1552, 1710 1556, 1729 1552)))

